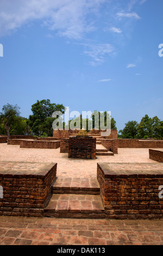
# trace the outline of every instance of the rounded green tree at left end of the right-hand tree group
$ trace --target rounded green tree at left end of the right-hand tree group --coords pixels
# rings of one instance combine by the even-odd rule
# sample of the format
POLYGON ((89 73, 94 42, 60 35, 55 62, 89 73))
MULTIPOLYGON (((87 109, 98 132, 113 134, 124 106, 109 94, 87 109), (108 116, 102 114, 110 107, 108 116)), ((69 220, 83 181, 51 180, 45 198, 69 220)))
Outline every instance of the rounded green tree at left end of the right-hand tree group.
POLYGON ((120 130, 121 138, 133 139, 137 136, 138 123, 136 121, 128 121, 123 130, 120 130))

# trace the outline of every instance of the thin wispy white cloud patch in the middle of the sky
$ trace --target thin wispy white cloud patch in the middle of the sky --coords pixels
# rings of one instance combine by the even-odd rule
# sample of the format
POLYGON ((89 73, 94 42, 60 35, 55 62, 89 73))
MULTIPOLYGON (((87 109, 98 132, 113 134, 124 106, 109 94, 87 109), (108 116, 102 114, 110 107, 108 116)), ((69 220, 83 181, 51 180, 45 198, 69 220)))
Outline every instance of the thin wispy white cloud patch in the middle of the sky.
POLYGON ((90 56, 93 60, 92 66, 100 65, 106 60, 106 56, 114 54, 115 48, 111 44, 82 44, 86 48, 84 54, 90 56))

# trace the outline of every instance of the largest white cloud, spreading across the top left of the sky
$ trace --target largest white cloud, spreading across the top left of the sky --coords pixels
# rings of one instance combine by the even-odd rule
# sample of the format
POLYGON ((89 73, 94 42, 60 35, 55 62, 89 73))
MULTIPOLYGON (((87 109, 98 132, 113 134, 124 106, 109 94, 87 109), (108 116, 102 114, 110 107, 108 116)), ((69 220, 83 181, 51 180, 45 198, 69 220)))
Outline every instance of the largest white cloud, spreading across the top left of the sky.
POLYGON ((43 20, 59 35, 80 39, 94 29, 86 16, 98 10, 106 0, 1 0, 0 36, 8 34, 29 21, 43 20))

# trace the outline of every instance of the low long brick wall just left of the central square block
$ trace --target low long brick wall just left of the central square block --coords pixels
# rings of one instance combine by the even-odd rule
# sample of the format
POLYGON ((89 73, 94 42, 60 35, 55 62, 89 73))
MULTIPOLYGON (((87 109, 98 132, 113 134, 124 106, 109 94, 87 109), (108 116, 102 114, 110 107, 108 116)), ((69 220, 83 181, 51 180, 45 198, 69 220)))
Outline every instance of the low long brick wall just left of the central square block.
POLYGON ((33 149, 58 149, 60 141, 30 141, 21 140, 20 148, 33 148, 33 149))

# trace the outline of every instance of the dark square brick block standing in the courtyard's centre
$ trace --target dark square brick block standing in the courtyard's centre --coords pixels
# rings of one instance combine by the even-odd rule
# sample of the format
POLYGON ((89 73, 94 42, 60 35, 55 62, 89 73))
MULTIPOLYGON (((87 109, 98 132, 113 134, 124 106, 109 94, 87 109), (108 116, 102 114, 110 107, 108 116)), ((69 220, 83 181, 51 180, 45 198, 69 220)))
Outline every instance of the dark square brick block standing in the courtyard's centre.
POLYGON ((96 159, 96 138, 70 138, 68 140, 68 157, 96 159))

